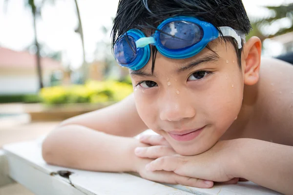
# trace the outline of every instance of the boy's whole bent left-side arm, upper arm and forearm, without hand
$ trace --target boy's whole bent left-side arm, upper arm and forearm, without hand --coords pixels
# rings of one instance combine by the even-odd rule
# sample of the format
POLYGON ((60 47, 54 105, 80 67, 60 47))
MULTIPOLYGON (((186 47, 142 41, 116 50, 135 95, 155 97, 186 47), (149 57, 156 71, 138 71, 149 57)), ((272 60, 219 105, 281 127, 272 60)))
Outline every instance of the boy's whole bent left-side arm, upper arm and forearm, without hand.
POLYGON ((144 130, 146 125, 131 95, 115 105, 63 121, 44 139, 42 156, 48 163, 65 167, 128 171, 133 156, 128 152, 133 144, 140 145, 129 137, 144 130))

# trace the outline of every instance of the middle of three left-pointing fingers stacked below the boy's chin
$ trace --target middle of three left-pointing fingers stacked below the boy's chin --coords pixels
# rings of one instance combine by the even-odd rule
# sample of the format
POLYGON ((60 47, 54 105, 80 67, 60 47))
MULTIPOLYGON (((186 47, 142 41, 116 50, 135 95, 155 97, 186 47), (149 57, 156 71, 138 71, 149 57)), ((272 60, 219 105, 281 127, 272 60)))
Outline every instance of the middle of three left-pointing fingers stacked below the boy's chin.
POLYGON ((136 156, 143 158, 159 158, 162 156, 172 156, 176 152, 167 146, 149 146, 149 147, 137 147, 134 150, 136 156))

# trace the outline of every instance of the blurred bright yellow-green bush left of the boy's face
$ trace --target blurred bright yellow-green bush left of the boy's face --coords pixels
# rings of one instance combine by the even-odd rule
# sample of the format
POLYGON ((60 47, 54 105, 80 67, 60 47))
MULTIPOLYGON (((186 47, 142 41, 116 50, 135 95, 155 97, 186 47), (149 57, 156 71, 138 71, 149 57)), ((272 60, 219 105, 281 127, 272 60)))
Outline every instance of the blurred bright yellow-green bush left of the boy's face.
POLYGON ((88 81, 85 85, 45 87, 40 92, 42 102, 99 103, 120 101, 132 93, 132 85, 117 81, 88 81))

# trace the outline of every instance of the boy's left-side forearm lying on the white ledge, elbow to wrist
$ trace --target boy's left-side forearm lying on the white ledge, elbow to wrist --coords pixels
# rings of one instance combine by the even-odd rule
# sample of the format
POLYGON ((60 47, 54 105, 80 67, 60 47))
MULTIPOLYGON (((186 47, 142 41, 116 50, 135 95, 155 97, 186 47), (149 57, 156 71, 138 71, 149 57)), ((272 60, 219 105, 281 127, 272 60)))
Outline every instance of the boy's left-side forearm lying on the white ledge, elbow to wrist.
POLYGON ((48 135, 42 145, 46 162, 89 171, 135 171, 134 148, 146 146, 131 137, 93 131, 81 125, 65 125, 48 135))

